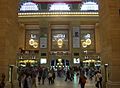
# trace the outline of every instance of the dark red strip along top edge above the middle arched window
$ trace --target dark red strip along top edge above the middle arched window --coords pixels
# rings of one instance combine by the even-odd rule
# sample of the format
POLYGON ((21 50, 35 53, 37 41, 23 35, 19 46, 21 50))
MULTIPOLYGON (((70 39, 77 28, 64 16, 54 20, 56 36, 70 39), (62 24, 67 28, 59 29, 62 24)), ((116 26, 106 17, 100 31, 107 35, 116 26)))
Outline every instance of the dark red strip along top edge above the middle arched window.
POLYGON ((32 0, 35 3, 80 3, 82 0, 32 0))

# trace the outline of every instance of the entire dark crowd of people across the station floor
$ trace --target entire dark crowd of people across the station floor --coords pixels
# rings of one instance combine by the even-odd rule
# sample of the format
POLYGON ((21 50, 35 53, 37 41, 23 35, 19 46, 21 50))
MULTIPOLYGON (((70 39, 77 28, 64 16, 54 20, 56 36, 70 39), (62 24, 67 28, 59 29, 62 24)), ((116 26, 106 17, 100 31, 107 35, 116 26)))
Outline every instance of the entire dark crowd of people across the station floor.
POLYGON ((38 85, 44 85, 46 82, 46 79, 48 80, 48 84, 54 84, 55 78, 57 77, 64 77, 65 82, 67 80, 72 81, 74 79, 74 75, 76 75, 79 78, 79 84, 81 85, 81 88, 85 87, 86 80, 89 78, 92 80, 92 78, 95 78, 96 81, 96 87, 102 88, 102 75, 100 71, 96 71, 93 68, 75 68, 70 67, 69 69, 55 69, 53 68, 47 68, 47 67, 20 67, 18 69, 18 81, 19 81, 19 87, 20 88, 33 88, 36 87, 36 78, 38 79, 38 85))

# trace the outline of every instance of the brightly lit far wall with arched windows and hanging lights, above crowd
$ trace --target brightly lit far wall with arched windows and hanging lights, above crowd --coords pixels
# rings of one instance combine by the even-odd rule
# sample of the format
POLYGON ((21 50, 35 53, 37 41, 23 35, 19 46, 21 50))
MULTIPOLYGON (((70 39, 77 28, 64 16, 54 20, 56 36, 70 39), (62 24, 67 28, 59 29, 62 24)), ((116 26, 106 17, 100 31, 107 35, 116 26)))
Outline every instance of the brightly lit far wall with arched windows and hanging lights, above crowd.
POLYGON ((100 65, 100 44, 96 42, 99 35, 95 31, 98 5, 91 1, 84 4, 21 2, 18 21, 24 26, 25 38, 24 46, 20 47, 24 53, 18 54, 18 64, 100 65))

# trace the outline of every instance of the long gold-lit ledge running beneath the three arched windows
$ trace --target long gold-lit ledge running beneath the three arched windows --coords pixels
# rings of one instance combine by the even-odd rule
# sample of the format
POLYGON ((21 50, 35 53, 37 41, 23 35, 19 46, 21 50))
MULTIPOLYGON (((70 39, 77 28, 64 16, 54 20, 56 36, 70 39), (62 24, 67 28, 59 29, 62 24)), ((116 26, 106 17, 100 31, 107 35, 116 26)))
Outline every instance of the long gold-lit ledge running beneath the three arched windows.
POLYGON ((18 13, 18 17, 99 17, 98 12, 69 12, 69 11, 59 11, 59 12, 20 12, 18 13))

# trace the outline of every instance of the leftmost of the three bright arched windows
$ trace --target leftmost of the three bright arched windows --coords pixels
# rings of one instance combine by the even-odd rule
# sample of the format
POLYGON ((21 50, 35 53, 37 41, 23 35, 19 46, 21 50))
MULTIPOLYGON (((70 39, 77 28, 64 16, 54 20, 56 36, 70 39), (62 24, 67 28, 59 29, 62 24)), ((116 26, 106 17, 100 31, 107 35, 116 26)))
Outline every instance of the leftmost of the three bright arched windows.
POLYGON ((23 5, 21 5, 20 11, 37 11, 38 6, 33 2, 26 2, 23 5))

